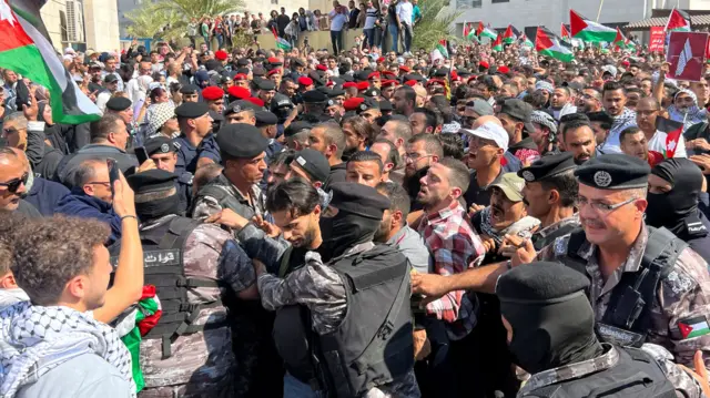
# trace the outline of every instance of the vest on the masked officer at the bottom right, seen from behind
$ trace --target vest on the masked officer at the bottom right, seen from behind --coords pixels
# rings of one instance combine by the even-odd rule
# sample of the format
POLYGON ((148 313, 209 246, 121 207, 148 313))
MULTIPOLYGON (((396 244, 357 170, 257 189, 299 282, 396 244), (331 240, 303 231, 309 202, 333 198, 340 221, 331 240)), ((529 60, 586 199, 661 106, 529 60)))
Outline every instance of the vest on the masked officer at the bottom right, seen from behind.
POLYGON ((524 397, 538 398, 674 398, 676 387, 661 366, 641 349, 615 347, 619 361, 611 368, 540 387, 524 397))

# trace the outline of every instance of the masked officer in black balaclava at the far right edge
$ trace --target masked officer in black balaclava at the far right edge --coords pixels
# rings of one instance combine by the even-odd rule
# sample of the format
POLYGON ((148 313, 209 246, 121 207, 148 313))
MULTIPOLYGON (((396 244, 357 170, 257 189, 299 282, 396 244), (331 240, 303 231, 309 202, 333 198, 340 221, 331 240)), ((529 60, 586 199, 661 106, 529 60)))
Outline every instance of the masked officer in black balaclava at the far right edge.
POLYGON ((710 222, 698 210, 702 188, 702 172, 686 157, 667 159, 648 176, 646 223, 666 227, 710 261, 710 222))

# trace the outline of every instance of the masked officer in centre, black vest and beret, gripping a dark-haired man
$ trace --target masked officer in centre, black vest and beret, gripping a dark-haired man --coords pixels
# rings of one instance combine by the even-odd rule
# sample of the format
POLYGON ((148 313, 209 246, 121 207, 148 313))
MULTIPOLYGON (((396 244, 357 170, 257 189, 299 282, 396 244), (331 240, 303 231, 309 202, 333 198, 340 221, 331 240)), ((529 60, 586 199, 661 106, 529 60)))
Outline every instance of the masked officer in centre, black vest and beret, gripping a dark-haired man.
POLYGON ((306 253, 305 265, 285 278, 254 262, 262 304, 277 310, 274 340, 291 376, 285 388, 418 397, 410 265, 397 249, 372 242, 389 201, 355 183, 332 188, 318 254, 306 253))

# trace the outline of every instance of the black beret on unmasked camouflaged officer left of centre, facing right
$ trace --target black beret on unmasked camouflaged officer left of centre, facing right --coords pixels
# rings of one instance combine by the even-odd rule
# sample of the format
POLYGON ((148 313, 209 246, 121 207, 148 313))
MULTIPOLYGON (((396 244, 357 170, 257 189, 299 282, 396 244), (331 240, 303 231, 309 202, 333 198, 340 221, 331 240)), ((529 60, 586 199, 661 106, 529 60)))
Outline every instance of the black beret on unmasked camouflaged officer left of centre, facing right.
POLYGON ((227 124, 216 137, 220 152, 225 157, 254 157, 266 151, 268 140, 255 126, 245 123, 227 124))

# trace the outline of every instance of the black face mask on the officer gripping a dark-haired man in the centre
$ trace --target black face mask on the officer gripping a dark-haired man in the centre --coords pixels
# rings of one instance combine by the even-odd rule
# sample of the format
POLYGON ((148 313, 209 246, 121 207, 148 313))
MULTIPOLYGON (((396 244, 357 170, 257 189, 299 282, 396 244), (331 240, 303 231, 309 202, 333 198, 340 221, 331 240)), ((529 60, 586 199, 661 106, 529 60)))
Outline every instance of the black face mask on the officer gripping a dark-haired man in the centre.
POLYGON ((338 212, 333 217, 321 217, 321 258, 327 263, 353 246, 372 241, 379 222, 347 212, 338 212))

